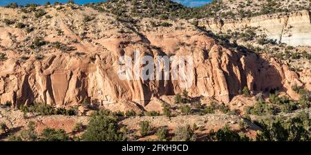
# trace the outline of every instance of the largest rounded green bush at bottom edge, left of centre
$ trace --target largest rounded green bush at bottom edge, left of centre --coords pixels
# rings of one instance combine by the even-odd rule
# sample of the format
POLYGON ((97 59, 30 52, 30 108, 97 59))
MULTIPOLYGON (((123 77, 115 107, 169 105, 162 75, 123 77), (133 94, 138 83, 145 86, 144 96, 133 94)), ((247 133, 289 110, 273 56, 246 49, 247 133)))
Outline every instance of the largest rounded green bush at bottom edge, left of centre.
POLYGON ((82 141, 126 141, 117 119, 105 113, 96 112, 91 115, 86 131, 82 134, 82 141))

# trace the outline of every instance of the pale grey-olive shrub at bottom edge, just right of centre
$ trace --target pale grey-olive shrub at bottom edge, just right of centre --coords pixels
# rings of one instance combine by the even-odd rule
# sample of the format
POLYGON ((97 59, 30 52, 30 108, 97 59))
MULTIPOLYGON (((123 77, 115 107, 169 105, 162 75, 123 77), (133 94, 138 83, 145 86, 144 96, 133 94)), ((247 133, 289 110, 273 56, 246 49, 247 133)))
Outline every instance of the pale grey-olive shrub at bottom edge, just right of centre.
POLYGON ((177 127, 173 141, 196 141, 196 134, 191 130, 190 125, 177 127))

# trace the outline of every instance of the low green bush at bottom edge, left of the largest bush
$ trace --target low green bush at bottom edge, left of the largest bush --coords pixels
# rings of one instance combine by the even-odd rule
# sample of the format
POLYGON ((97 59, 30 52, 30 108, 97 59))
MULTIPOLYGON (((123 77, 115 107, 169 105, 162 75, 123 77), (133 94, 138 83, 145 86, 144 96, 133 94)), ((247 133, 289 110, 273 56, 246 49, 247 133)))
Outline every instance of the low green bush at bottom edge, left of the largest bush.
POLYGON ((65 130, 55 130, 47 127, 40 134, 39 141, 69 141, 69 136, 65 130))

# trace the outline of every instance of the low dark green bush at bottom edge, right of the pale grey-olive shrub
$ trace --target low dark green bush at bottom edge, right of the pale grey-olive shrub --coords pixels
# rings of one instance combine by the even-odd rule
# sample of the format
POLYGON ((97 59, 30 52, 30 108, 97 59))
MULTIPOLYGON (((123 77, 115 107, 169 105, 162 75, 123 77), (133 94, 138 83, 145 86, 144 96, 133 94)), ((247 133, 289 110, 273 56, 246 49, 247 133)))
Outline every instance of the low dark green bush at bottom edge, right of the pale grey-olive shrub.
POLYGON ((209 138, 211 141, 249 141, 247 137, 241 137, 238 133, 231 130, 228 125, 225 125, 222 129, 214 132, 209 132, 209 138))

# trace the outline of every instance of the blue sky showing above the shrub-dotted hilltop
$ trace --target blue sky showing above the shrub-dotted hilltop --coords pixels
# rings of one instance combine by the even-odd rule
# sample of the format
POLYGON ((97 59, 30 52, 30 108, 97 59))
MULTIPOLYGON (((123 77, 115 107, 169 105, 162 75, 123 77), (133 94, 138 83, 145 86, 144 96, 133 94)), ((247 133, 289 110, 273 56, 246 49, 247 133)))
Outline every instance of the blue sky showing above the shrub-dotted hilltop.
MULTIPOLYGON (((54 3, 54 1, 59 1, 62 3, 67 2, 68 0, 0 0, 0 6, 4 6, 8 3, 17 2, 21 5, 25 5, 27 3, 39 3, 44 4, 46 1, 50 1, 50 3, 54 3)), ((75 3, 83 4, 83 3, 90 3, 90 2, 99 2, 104 0, 75 0, 75 3)), ((204 4, 208 3, 210 0, 173 0, 179 3, 184 4, 185 6, 203 6, 204 4)))

